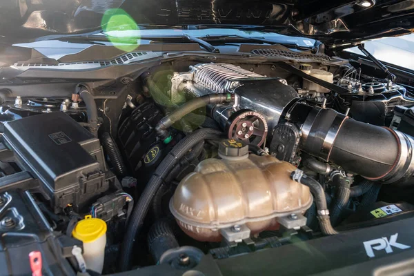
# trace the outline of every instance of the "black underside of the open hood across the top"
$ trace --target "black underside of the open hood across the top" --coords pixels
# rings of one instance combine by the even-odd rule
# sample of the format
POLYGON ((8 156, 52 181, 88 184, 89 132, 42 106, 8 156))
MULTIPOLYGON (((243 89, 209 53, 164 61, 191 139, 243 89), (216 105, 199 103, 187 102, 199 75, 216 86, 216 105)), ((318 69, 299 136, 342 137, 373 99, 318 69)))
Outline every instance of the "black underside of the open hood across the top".
MULTIPOLYGON (((104 29, 108 12, 128 12, 139 28, 257 26, 266 31, 312 37, 326 46, 414 30, 413 0, 23 0, 0 3, 0 43, 48 34, 104 29), (148 26, 148 25, 152 26, 148 26)), ((121 27, 123 28, 123 27, 121 27)))

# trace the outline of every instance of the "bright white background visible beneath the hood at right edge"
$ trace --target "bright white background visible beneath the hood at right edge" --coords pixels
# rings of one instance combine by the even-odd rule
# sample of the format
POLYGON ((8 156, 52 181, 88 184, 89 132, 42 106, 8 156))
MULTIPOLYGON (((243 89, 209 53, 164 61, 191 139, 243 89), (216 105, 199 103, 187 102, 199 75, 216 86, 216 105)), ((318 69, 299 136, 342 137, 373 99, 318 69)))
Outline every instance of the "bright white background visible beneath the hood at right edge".
MULTIPOLYGON (((365 48, 380 61, 414 70, 414 34, 366 41, 365 48)), ((346 51, 364 55, 357 47, 346 51)))

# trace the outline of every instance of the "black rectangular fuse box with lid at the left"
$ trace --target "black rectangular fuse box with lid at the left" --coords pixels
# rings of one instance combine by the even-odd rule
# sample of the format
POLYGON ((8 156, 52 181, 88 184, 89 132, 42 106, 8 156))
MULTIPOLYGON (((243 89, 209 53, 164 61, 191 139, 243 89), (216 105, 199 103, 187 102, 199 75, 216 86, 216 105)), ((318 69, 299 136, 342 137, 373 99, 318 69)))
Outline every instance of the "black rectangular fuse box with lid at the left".
POLYGON ((81 209, 115 181, 106 172, 99 139, 63 112, 10 121, 3 138, 41 181, 41 193, 55 212, 68 204, 81 209))

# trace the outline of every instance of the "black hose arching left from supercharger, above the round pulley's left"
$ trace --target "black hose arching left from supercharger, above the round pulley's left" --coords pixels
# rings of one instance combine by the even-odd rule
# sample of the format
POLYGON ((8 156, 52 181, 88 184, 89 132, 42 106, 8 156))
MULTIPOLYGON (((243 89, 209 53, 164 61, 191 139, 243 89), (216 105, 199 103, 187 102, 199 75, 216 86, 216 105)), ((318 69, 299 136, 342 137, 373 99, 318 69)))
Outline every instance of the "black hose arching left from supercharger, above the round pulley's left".
POLYGON ((159 137, 166 139, 170 135, 167 129, 175 124, 176 121, 188 115, 190 112, 193 112, 203 106, 207 106, 208 104, 225 103, 229 101, 231 101, 231 97, 228 97, 227 94, 210 94, 190 99, 190 101, 187 101, 184 105, 162 118, 157 126, 155 126, 155 131, 159 137))

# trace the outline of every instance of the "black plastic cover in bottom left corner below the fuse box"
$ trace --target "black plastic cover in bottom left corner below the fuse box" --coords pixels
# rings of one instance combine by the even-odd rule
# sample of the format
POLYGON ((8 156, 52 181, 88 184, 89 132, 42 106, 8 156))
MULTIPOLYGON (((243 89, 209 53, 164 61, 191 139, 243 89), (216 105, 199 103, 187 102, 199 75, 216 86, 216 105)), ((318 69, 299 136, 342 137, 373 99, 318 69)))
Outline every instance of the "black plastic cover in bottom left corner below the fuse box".
POLYGON ((82 242, 53 232, 28 191, 0 193, 0 244, 0 276, 32 275, 32 252, 41 253, 42 275, 76 275, 66 257, 82 242))

